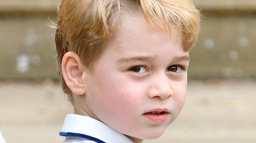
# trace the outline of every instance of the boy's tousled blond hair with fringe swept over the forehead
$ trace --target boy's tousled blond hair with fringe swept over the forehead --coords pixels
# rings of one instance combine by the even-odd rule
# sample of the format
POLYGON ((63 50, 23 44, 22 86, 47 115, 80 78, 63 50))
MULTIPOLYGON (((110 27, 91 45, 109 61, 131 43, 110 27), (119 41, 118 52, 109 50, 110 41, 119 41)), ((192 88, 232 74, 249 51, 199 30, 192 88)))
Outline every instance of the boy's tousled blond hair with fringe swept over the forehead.
POLYGON ((65 53, 79 55, 89 68, 104 51, 120 18, 120 13, 141 11, 147 22, 175 24, 182 31, 184 51, 194 47, 200 23, 200 12, 189 0, 62 0, 55 25, 57 70, 62 89, 72 104, 72 91, 66 85, 61 71, 65 53))

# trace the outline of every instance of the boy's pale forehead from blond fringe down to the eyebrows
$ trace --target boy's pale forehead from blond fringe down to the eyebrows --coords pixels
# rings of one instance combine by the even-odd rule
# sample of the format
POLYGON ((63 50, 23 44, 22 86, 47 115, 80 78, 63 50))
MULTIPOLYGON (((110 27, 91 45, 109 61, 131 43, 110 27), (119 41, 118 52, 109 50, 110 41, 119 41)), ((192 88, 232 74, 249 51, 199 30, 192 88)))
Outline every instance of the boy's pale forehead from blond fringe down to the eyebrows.
POLYGON ((183 50, 181 32, 178 28, 173 26, 170 35, 168 29, 161 29, 154 23, 148 24, 143 14, 122 15, 121 23, 105 45, 104 53, 104 59, 113 57, 117 61, 149 61, 148 59, 162 59, 159 58, 161 56, 168 59, 188 56, 188 52, 183 50))

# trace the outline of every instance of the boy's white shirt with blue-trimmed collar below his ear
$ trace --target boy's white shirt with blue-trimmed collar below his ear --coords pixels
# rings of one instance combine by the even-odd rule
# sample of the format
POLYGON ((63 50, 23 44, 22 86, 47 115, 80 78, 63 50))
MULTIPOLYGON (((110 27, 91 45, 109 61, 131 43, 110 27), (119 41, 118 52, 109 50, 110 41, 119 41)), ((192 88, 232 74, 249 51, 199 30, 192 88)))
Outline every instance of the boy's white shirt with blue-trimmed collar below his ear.
POLYGON ((88 116, 68 114, 61 136, 64 143, 134 143, 125 135, 88 116))

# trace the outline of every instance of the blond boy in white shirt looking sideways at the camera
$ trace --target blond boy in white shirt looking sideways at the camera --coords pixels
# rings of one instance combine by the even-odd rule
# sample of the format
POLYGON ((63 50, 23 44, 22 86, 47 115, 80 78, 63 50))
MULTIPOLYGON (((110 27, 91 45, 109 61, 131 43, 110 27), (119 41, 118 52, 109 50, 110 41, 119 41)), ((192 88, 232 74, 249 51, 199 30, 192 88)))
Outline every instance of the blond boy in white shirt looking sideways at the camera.
POLYGON ((185 101, 200 14, 189 0, 62 0, 57 68, 74 106, 65 143, 157 138, 185 101))

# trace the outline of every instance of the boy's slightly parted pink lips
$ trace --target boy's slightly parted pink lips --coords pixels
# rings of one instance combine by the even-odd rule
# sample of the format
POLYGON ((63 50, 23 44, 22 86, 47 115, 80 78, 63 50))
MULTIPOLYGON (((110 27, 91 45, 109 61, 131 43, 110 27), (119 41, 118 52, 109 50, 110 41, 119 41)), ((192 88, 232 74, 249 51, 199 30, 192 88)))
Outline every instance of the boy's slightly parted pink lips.
POLYGON ((155 123, 162 123, 168 118, 169 112, 167 109, 153 109, 149 112, 143 114, 144 117, 147 119, 155 122, 155 123))

